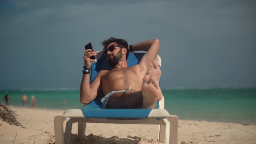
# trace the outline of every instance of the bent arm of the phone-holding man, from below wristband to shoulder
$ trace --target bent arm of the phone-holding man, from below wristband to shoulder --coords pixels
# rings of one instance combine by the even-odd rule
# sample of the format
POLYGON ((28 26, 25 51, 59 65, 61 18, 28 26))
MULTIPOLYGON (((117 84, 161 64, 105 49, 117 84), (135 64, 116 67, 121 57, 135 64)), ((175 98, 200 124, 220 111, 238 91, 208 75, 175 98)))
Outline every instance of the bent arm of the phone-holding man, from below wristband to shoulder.
POLYGON ((100 85, 101 85, 101 74, 100 71, 98 75, 96 75, 95 79, 90 84, 90 75, 84 74, 82 77, 81 85, 80 85, 80 102, 82 104, 89 104, 93 101, 98 92, 100 92, 100 85))

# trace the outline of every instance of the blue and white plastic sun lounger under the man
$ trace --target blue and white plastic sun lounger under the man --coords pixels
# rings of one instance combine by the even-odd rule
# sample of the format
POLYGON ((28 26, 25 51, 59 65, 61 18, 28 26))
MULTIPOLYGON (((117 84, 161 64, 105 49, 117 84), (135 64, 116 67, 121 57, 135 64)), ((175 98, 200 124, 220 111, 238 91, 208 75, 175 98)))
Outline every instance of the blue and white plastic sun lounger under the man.
MULTIPOLYGON (((91 66, 90 82, 102 69, 110 70, 111 67, 101 56, 102 51, 97 52, 97 62, 91 66)), ((138 64, 143 53, 130 53, 128 57, 128 66, 138 64)), ((161 58, 157 61, 161 66, 161 58)), ((158 140, 166 144, 177 144, 178 117, 170 115, 164 109, 164 97, 157 102, 158 109, 100 109, 101 101, 96 98, 90 104, 81 109, 68 109, 63 115, 54 118, 54 132, 56 144, 69 144, 71 137, 72 124, 78 122, 78 136, 82 138, 85 135, 86 123, 114 123, 114 124, 158 124, 158 140), (66 123, 65 135, 63 134, 63 122, 69 118, 66 123)))

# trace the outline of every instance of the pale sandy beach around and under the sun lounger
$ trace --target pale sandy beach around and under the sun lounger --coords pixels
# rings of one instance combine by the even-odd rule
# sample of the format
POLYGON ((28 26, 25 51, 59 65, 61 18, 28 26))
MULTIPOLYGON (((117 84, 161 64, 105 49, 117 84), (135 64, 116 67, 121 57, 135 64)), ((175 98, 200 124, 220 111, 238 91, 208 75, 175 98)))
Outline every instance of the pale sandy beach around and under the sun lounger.
MULTIPOLYGON (((12 144, 14 139, 14 144, 55 142, 53 118, 62 115, 63 110, 11 109, 26 129, 0 121, 0 144, 12 144)), ((77 124, 73 124, 71 144, 161 144, 157 142, 157 125, 89 123, 83 140, 76 134, 77 124)), ((256 144, 256 125, 179 120, 178 144, 256 144)))

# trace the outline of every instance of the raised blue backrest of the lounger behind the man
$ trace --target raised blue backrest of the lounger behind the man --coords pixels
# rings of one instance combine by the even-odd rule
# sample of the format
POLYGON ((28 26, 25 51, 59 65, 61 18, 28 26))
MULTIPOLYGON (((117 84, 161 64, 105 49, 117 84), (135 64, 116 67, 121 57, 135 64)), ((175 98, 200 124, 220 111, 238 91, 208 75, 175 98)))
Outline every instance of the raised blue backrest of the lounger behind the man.
MULTIPOLYGON (((96 56, 97 62, 94 62, 91 65, 90 83, 93 81, 93 79, 95 78, 95 76, 98 74, 98 72, 100 70, 111 70, 112 69, 112 67, 108 64, 106 57, 104 55, 102 55, 103 51, 97 51, 96 53, 97 53, 97 56, 96 56)), ((144 55, 144 53, 130 52, 128 59, 127 59, 128 67, 137 65, 140 62, 143 55, 144 55)), ((161 66, 161 58, 159 56, 157 57, 157 61, 159 62, 160 66, 161 66)), ((98 105, 98 108, 101 105, 101 101, 99 98, 96 98, 92 102, 95 103, 96 105, 98 105)), ((97 107, 96 105, 95 105, 95 107, 93 105, 91 105, 91 106, 96 108, 97 107)), ((157 107, 159 108, 158 103, 157 103, 157 107)))

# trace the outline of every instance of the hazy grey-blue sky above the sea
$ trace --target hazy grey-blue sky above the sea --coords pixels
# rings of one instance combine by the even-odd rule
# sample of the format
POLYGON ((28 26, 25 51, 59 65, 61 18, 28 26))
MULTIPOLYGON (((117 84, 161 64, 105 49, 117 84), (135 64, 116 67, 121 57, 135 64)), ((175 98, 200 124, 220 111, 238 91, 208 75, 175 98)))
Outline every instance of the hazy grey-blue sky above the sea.
POLYGON ((159 39, 161 87, 256 87, 253 0, 0 2, 0 90, 75 88, 84 45, 159 39))

